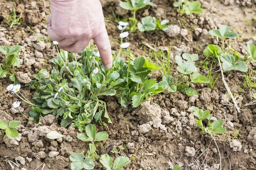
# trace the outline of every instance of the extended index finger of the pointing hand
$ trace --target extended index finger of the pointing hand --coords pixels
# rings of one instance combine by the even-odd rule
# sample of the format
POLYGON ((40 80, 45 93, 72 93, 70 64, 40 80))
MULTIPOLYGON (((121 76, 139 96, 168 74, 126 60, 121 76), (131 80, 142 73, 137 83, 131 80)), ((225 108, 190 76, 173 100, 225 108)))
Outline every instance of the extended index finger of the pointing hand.
POLYGON ((101 33, 97 37, 93 38, 93 40, 99 49, 99 54, 102 58, 103 65, 105 68, 111 68, 113 57, 111 54, 111 45, 105 25, 102 27, 101 33))

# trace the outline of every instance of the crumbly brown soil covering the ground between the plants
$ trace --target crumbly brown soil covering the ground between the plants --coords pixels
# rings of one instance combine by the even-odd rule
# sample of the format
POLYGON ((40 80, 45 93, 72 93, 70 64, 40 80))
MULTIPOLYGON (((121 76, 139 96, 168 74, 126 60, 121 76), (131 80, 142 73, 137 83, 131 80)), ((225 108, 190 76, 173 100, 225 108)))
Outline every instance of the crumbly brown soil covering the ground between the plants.
MULTIPOLYGON (((235 4, 224 6, 218 0, 199 0, 202 3, 204 14, 180 16, 177 15, 176 9, 172 7, 173 0, 152 1, 157 4, 157 7, 139 10, 137 13, 138 20, 148 15, 168 19, 173 25, 187 29, 188 35, 185 39, 180 35, 169 38, 162 31, 157 31, 154 34, 147 32, 131 33, 129 42, 131 42, 131 50, 134 56, 148 54, 151 49, 146 44, 152 47, 156 45, 156 48, 160 49, 167 48, 172 42, 174 56, 177 48, 182 48, 183 52, 198 53, 200 59, 203 59, 202 50, 207 44, 221 42, 217 42, 209 34, 204 34, 204 31, 197 35, 195 34, 195 29, 202 28, 209 31, 221 24, 232 26, 234 31, 238 32, 239 37, 229 40, 229 42, 232 41, 233 48, 245 55, 245 42, 250 40, 256 32, 253 22, 256 9, 254 5, 251 8, 235 4)), ((242 3, 242 0, 240 2, 242 3)), ((254 1, 252 0, 252 2, 254 1)), ((104 5, 106 26, 112 48, 113 50, 118 50, 119 44, 116 40, 119 32, 113 29, 116 28, 117 24, 113 22, 112 10, 116 13, 123 13, 120 18, 128 18, 131 13, 125 14, 125 11, 120 9, 118 0, 102 0, 102 4, 104 5)), ((39 40, 27 28, 29 26, 33 31, 41 33, 41 36, 47 40, 46 24, 47 16, 50 13, 49 6, 50 3, 47 0, 2 0, 0 2, 0 45, 23 46, 20 51, 20 59, 23 60, 23 64, 15 68, 15 73, 21 71, 24 74, 35 74, 41 68, 48 70, 52 68, 50 59, 56 56, 55 46, 46 41, 46 48, 41 51, 43 57, 35 57, 36 51, 33 46, 39 40), (12 6, 16 8, 19 15, 22 13, 24 22, 14 28, 9 28, 6 24, 8 20, 4 16, 12 13, 12 6), (33 38, 36 40, 30 44, 33 38), (29 61, 34 59, 35 62, 28 62, 27 59, 29 61)), ((225 43, 227 45, 228 41, 225 43)), ((0 60, 3 60, 3 58, 4 56, 0 54, 0 60)), ((216 67, 215 70, 218 70, 218 65, 214 67, 216 67)), ((253 69, 253 73, 256 74, 255 63, 249 63, 248 67, 253 69)), ((174 73, 177 72, 176 67, 173 68, 173 71, 174 73)), ((206 72, 206 70, 201 70, 201 73, 206 72)), ((158 79, 159 76, 157 74, 154 75, 158 79)), ((108 97, 105 101, 113 124, 98 127, 99 131, 108 132, 109 139, 98 143, 96 152, 99 155, 108 153, 111 156, 116 156, 109 150, 119 144, 123 144, 125 150, 119 155, 128 156, 132 160, 125 167, 126 170, 166 170, 169 167, 167 161, 173 165, 179 164, 183 170, 217 170, 220 163, 217 147, 209 135, 201 134, 197 128, 192 114, 192 107, 195 106, 201 109, 209 109, 212 116, 225 122, 224 127, 227 132, 223 135, 214 135, 221 152, 222 169, 255 170, 256 142, 253 142, 249 137, 247 139, 247 136, 256 128, 256 107, 255 105, 243 105, 253 102, 252 94, 256 92, 256 89, 244 88, 245 79, 242 77, 241 72, 231 71, 225 73, 225 76, 241 108, 240 114, 229 104, 232 100, 227 95, 221 79, 218 80, 212 90, 206 84, 192 85, 200 93, 199 96, 189 97, 180 92, 162 93, 152 97, 149 102, 143 103, 137 109, 133 109, 131 106, 122 108, 116 99, 108 97), (243 89, 239 91, 240 88, 243 89), (160 122, 160 127, 157 127, 155 120, 162 122, 160 122), (232 122, 233 126, 227 123, 229 121, 232 122), (139 132, 139 128, 145 123, 153 126, 150 131, 142 134, 139 132), (238 136, 234 137, 237 130, 239 130, 238 136), (234 139, 241 142, 242 148, 240 151, 233 151, 234 149, 230 147, 230 143, 234 139), (200 156, 202 148, 208 149, 200 156), (192 152, 189 151, 190 149, 192 149, 192 152)), ((38 125, 28 122, 19 113, 11 112, 12 102, 16 101, 17 97, 6 92, 5 88, 10 83, 9 79, 0 79, 0 119, 8 121, 13 119, 20 120, 21 126, 18 131, 21 139, 16 141, 18 145, 14 145, 14 142, 4 135, 3 130, 0 130, 0 170, 11 170, 12 168, 7 161, 15 162, 15 158, 18 156, 22 156, 26 160, 25 164, 21 164, 20 169, 23 167, 26 170, 35 170, 36 167, 44 162, 46 164, 44 170, 70 170, 70 161, 68 159, 70 154, 81 152, 82 150, 86 151, 88 144, 76 138, 77 129, 60 127, 52 115, 42 117, 40 119, 42 125, 38 125), (66 137, 58 140, 49 140, 44 136, 44 133, 47 133, 48 130, 58 131, 66 135, 66 137), (58 151, 58 156, 50 158, 49 153, 51 151, 58 151)), ((24 84, 22 85, 22 92, 29 99, 32 99, 34 91, 29 91, 24 84)), ((23 113, 29 116, 29 105, 22 103, 21 107, 24 110, 23 113)), ((20 161, 18 162, 20 163, 20 161)), ((97 164, 95 169, 99 170, 102 167, 97 164)), ((16 167, 15 170, 18 170, 18 168, 16 167)))

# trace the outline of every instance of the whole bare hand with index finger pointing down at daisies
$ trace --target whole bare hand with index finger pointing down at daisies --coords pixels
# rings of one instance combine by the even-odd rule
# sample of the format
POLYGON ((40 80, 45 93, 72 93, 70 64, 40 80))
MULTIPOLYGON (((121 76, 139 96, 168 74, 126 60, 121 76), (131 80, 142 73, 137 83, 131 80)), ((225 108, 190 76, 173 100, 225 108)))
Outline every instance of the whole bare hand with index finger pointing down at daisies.
POLYGON ((111 45, 99 0, 51 0, 47 30, 52 41, 70 52, 81 52, 94 40, 103 65, 112 67, 111 45))

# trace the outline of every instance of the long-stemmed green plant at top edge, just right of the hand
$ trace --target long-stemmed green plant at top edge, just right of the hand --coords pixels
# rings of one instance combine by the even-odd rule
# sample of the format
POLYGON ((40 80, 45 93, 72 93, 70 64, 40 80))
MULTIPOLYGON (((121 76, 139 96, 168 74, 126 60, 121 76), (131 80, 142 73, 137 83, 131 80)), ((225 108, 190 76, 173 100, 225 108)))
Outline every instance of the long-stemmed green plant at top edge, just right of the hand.
POLYGON ((133 17, 128 18, 131 24, 130 31, 136 31, 137 19, 136 19, 136 11, 144 8, 145 6, 156 6, 154 3, 150 2, 150 0, 127 0, 127 2, 122 2, 119 4, 122 8, 133 11, 133 17))

